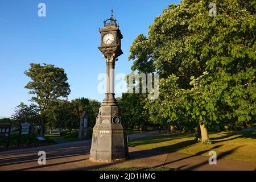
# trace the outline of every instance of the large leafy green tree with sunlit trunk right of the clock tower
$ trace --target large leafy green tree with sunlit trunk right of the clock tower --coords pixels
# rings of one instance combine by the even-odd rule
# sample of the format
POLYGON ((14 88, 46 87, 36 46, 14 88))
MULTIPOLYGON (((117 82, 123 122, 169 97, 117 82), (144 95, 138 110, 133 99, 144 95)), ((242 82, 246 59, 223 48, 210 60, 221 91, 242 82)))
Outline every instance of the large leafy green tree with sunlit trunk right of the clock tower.
POLYGON ((255 122, 255 2, 184 0, 155 18, 130 48, 133 71, 160 74, 151 113, 196 122, 202 141, 214 123, 255 122))

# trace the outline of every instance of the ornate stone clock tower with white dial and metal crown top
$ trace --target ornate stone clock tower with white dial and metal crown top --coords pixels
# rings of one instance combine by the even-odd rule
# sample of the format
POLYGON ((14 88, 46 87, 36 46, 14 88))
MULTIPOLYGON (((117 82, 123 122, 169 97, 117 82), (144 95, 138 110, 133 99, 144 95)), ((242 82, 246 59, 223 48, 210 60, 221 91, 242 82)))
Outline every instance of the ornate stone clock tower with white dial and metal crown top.
POLYGON ((104 20, 100 51, 106 60, 106 93, 93 127, 90 159, 98 162, 125 160, 128 156, 126 134, 123 130, 117 101, 114 94, 114 70, 117 57, 122 55, 123 38, 117 20, 112 15, 104 20))

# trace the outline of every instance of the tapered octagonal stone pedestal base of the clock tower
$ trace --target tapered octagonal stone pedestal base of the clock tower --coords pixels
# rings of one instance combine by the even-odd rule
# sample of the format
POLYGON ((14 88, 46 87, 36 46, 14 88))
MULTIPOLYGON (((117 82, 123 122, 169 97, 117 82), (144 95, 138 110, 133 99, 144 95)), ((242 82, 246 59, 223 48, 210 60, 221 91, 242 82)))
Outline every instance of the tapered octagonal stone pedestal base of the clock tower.
POLYGON ((128 157, 126 134, 123 132, 117 105, 102 105, 93 127, 90 159, 114 162, 128 157))

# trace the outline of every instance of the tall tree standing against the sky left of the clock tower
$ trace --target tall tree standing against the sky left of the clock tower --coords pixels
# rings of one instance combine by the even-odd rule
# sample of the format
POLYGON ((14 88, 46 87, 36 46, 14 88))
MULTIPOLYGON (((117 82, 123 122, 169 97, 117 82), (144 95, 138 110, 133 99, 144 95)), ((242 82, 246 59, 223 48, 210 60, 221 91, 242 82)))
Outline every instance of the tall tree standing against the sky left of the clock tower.
POLYGON ((25 86, 30 89, 29 94, 34 94, 32 102, 38 104, 40 113, 40 135, 43 135, 47 124, 47 110, 56 100, 65 98, 71 90, 67 82, 68 77, 63 68, 57 68, 52 64, 30 64, 30 69, 24 72, 32 81, 25 86))

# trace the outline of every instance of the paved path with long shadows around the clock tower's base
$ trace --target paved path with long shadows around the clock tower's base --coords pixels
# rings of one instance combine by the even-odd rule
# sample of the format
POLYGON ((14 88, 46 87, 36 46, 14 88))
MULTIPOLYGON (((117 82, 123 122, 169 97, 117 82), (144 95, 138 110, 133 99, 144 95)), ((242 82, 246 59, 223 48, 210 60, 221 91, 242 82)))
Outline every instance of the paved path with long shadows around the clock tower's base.
MULTIPOLYGON (((129 135, 129 139, 137 139, 154 135, 157 132, 129 135)), ((89 160, 90 140, 60 143, 52 146, 26 148, 22 150, 0 152, 0 171, 56 171, 56 170, 87 170, 97 168, 128 168, 128 167, 162 167, 176 170, 256 170, 256 163, 231 159, 217 158, 216 165, 208 163, 209 157, 164 152, 130 147, 130 159, 119 163, 99 163, 89 160), (38 152, 46 151, 46 165, 38 164, 38 152)))

